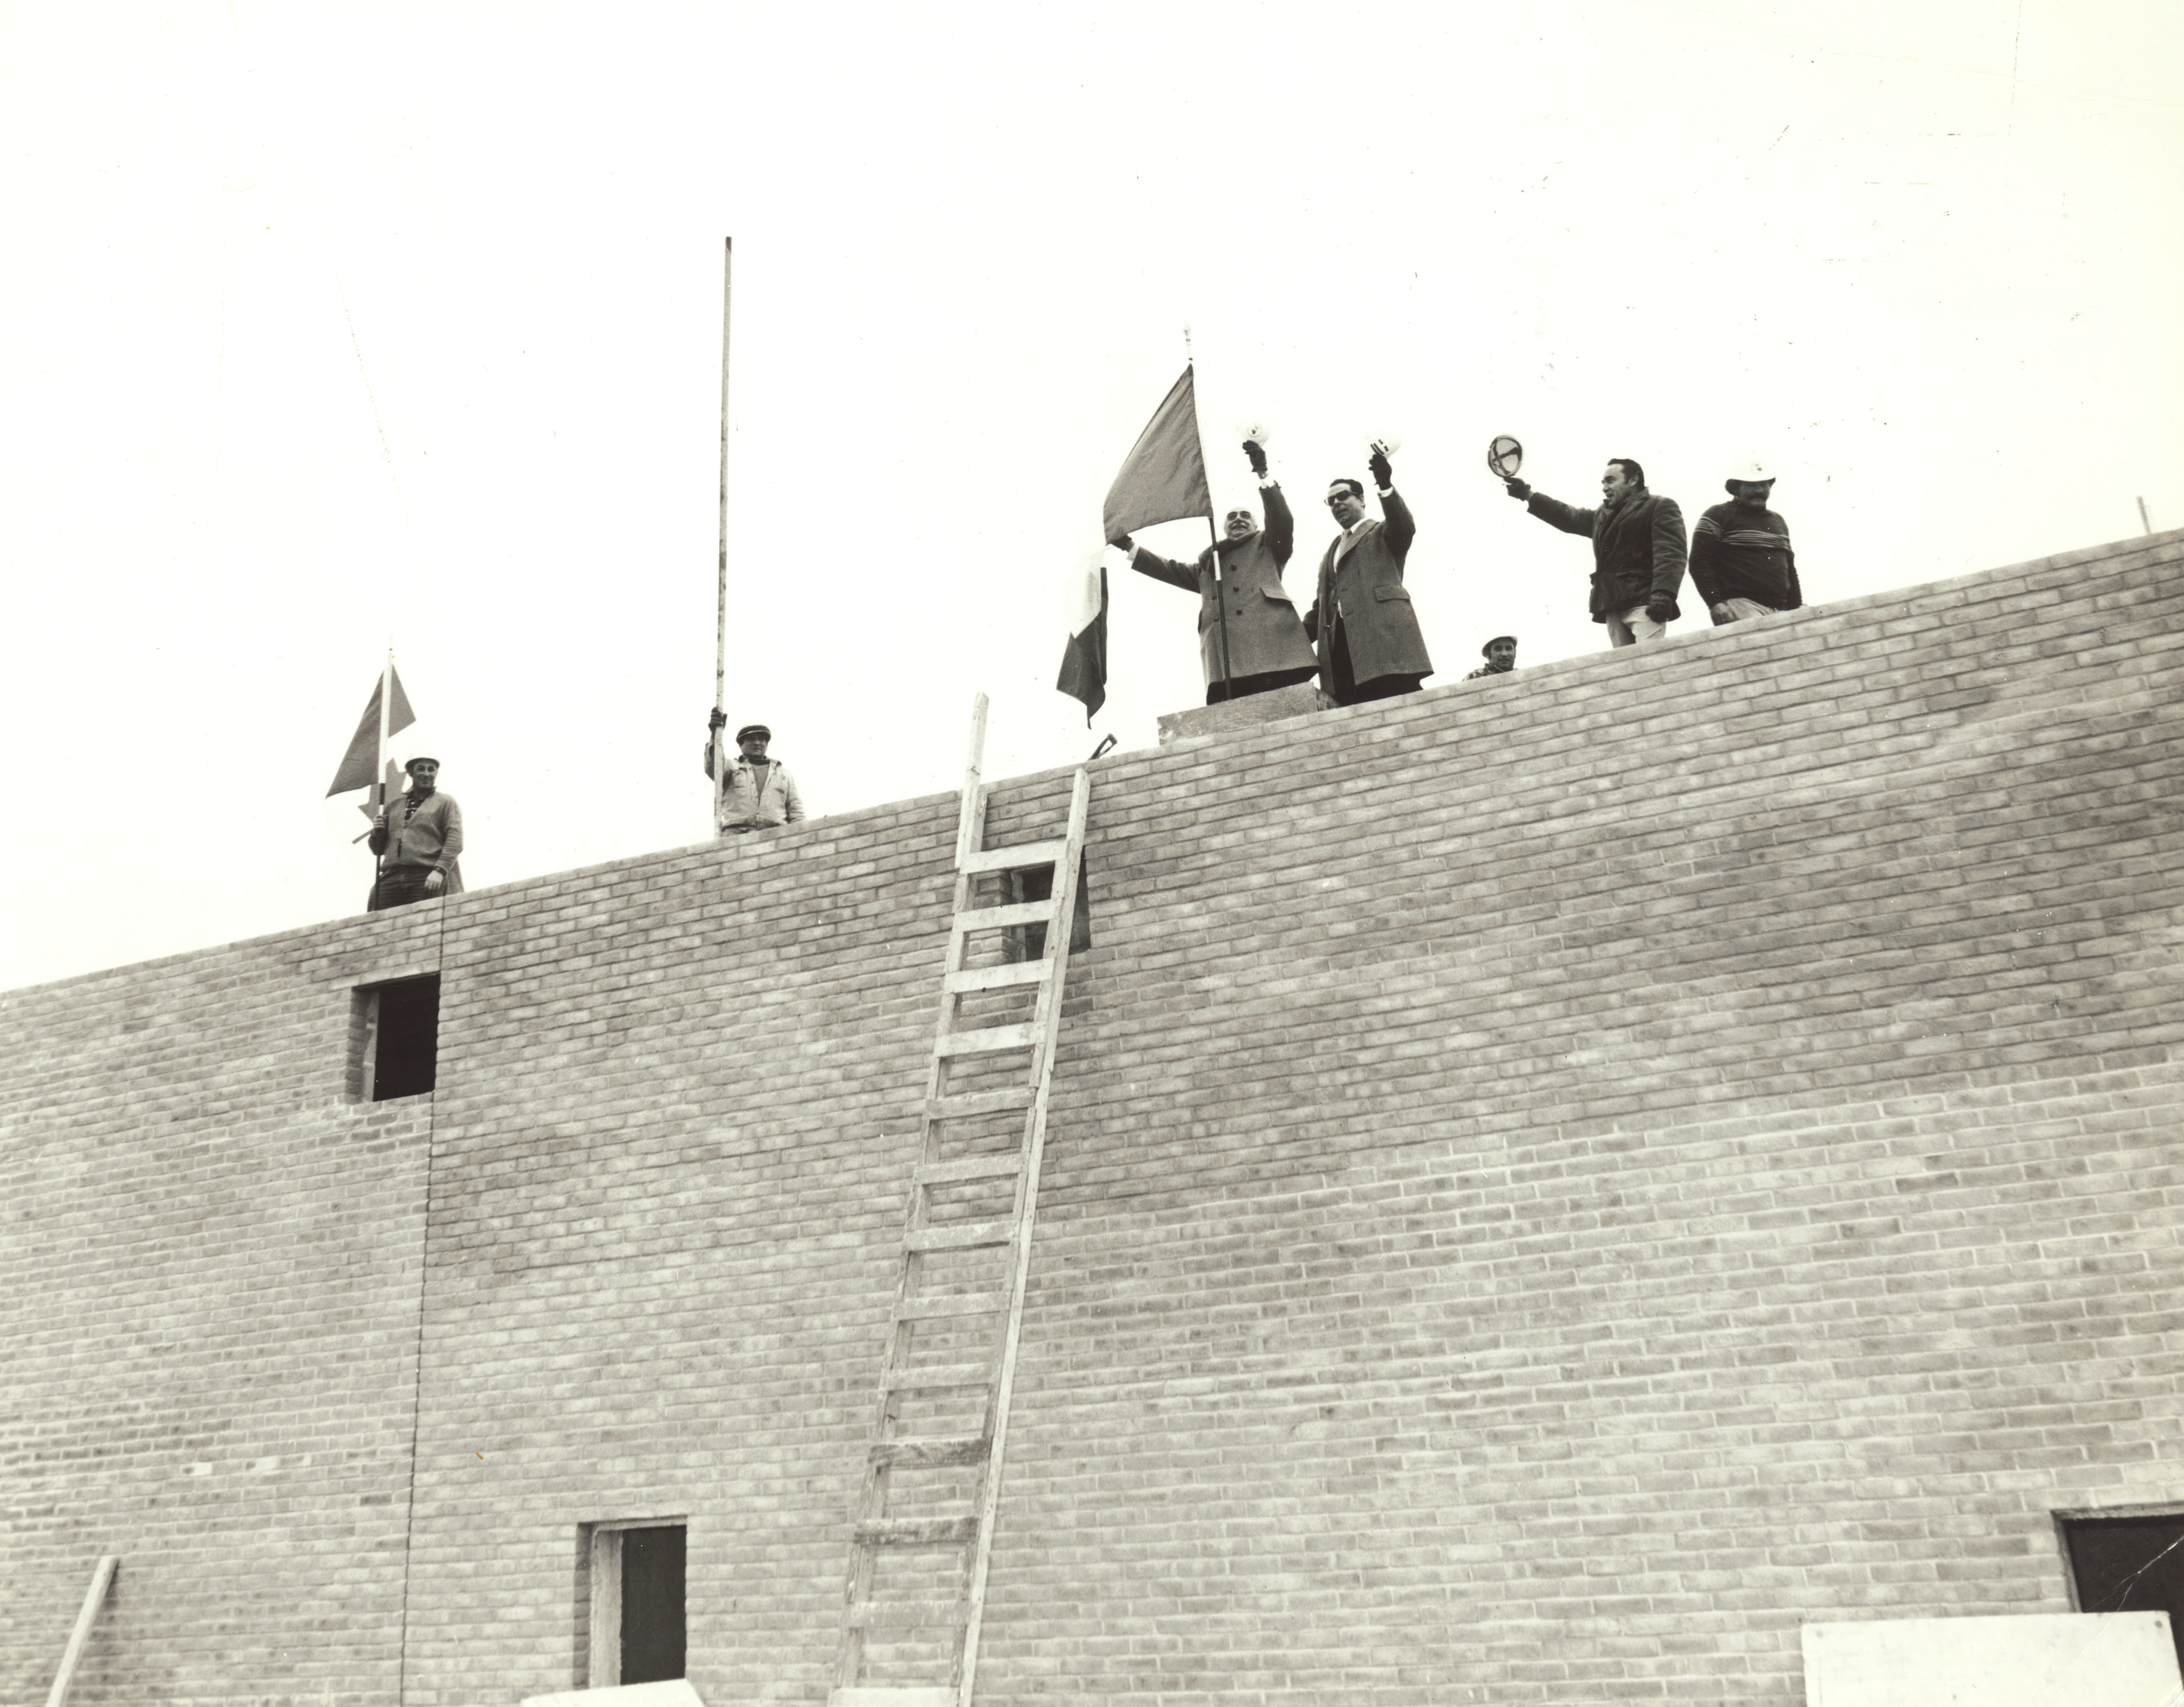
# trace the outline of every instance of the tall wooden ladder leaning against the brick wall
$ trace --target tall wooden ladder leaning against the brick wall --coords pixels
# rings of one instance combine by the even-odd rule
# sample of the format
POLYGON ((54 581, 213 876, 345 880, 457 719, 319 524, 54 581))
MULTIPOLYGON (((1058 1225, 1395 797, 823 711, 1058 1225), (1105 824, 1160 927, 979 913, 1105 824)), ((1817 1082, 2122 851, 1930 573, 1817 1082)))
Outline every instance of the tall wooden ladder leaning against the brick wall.
POLYGON ((1059 840, 985 847, 985 709, 978 694, 957 821, 954 926, 830 1707, 970 1707, 978 1670, 1092 795, 1079 766, 1059 840), (1040 869, 1053 871, 1048 899, 1005 893, 981 904, 1011 873, 1040 869))

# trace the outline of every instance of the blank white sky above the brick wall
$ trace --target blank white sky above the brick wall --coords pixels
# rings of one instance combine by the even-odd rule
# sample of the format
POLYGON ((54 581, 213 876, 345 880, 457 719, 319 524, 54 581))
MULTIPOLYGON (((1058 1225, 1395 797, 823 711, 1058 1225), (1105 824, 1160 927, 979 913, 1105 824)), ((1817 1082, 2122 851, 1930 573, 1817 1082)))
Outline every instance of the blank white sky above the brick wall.
POLYGON ((2167 0, 9 0, 0 987, 358 910, 389 642, 474 888, 708 834, 725 234, 727 709, 815 812, 954 786, 976 688, 989 775, 1203 699, 1123 570, 1053 692, 1186 321, 1299 589, 1404 437, 1441 683, 1603 644, 1494 432, 1686 517, 1773 458, 1819 605, 2184 524, 2180 72, 2167 0))

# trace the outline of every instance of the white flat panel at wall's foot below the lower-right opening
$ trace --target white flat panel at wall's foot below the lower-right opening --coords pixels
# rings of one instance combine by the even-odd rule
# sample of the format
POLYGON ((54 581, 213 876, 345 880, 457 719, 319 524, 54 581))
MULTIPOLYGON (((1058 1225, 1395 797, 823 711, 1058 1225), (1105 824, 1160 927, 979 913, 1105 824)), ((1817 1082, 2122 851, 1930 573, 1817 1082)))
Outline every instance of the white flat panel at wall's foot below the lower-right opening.
POLYGON ((1806 1707, 2177 1707, 2169 1613, 1804 1626, 1806 1707))

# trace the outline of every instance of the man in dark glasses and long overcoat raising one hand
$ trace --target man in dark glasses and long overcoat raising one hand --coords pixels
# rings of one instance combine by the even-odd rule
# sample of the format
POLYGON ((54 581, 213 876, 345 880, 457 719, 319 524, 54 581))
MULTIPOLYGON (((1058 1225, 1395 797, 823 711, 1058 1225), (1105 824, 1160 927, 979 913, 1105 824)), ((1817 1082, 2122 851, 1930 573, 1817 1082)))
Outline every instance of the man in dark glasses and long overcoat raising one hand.
POLYGON ((1417 522, 1396 491, 1387 445, 1374 443, 1367 467, 1380 515, 1365 513, 1363 480, 1328 487, 1326 504, 1341 533, 1319 559, 1319 596, 1304 613, 1304 631, 1319 644, 1319 685, 1337 705, 1415 694, 1433 675, 1411 589, 1402 585, 1417 522))

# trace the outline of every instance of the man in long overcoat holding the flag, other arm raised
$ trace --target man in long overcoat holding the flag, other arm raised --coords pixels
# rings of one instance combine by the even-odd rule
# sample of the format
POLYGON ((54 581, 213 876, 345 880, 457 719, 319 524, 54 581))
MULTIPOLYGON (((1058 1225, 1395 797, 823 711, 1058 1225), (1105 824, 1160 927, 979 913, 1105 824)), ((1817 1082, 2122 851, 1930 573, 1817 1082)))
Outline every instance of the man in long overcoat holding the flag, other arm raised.
POLYGON ((1319 670, 1313 642, 1282 585, 1282 570, 1295 548, 1297 522, 1282 498, 1282 485, 1267 471, 1265 445, 1245 439, 1245 458, 1258 476, 1267 528, 1249 509, 1232 509, 1221 530, 1227 535, 1199 552, 1197 563, 1177 563, 1133 546, 1129 535, 1109 539, 1129 552, 1129 568, 1199 596, 1199 661, 1206 668, 1206 703, 1265 694, 1310 681, 1319 670))

